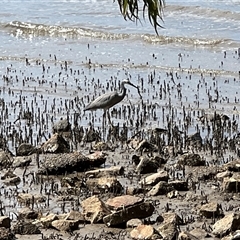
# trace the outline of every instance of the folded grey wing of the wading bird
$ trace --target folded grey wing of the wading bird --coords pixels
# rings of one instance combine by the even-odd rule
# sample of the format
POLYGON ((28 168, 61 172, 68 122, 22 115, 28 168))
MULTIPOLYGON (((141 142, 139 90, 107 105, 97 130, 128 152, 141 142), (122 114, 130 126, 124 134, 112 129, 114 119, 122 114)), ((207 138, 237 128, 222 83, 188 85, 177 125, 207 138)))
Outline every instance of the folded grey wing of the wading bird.
POLYGON ((116 104, 116 100, 118 100, 117 92, 105 93, 96 99, 94 99, 84 110, 96 110, 96 109, 104 109, 110 108, 114 104, 116 104))

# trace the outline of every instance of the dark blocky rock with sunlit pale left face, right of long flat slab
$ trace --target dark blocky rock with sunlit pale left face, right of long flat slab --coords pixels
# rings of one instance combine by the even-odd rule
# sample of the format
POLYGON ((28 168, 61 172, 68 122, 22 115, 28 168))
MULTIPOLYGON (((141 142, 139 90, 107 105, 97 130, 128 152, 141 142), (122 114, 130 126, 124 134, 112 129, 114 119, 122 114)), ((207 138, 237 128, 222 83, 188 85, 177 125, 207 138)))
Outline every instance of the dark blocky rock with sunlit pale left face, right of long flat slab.
POLYGON ((155 160, 143 156, 140 157, 140 162, 136 167, 136 172, 140 174, 155 173, 158 168, 159 164, 155 160))

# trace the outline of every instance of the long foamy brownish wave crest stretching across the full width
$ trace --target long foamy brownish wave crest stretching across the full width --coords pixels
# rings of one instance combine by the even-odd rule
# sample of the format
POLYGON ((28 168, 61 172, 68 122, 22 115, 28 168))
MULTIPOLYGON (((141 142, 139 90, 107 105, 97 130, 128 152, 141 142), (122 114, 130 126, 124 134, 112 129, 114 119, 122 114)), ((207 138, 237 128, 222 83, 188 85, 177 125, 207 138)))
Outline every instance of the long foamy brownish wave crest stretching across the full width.
MULTIPOLYGON (((191 38, 181 36, 164 36, 155 34, 131 34, 131 33, 112 33, 109 31, 96 31, 80 27, 68 27, 57 25, 34 24, 28 22, 13 21, 8 24, 0 25, 0 29, 5 29, 16 36, 49 36, 64 38, 91 37, 106 40, 125 40, 144 41, 149 44, 178 44, 185 46, 216 47, 231 44, 229 39, 210 39, 210 38, 191 38)), ((239 44, 239 43, 238 43, 239 44)))

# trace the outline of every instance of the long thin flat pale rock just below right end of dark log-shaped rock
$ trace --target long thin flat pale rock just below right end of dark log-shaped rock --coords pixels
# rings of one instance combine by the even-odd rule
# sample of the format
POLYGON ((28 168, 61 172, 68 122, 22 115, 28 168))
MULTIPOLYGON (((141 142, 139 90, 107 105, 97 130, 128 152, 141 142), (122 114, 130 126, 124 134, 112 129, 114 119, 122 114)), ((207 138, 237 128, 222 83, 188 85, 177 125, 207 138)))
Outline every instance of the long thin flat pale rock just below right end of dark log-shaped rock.
POLYGON ((109 168, 99 168, 96 170, 91 170, 85 172, 86 177, 94 177, 94 178, 99 178, 99 177, 105 177, 105 176, 118 176, 118 175, 123 175, 124 173, 124 168, 121 166, 112 166, 109 168))

